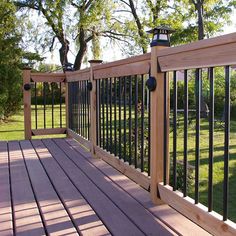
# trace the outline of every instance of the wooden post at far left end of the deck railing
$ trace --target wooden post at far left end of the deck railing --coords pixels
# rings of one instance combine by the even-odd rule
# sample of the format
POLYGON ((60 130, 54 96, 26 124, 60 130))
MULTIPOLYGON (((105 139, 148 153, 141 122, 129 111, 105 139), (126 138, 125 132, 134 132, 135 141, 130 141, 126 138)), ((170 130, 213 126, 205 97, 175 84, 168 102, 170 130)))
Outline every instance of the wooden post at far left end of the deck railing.
POLYGON ((31 88, 30 88, 31 69, 23 69, 23 99, 24 99, 24 126, 25 139, 31 139, 31 88))

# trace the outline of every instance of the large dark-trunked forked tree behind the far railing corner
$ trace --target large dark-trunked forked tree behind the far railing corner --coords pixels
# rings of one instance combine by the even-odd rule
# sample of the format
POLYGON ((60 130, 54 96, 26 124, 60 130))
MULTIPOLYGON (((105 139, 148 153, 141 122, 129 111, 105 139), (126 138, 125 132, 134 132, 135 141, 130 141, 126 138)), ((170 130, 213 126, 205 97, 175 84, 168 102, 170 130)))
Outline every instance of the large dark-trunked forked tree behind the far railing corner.
MULTIPOLYGON (((50 49, 53 49, 56 39, 61 45, 59 54, 62 66, 68 63, 70 42, 75 41, 78 48, 74 61, 75 70, 81 68, 89 42, 98 43, 99 37, 119 36, 111 28, 107 28, 111 26, 107 23, 112 7, 109 3, 109 0, 21 0, 15 2, 19 8, 33 9, 45 18, 47 26, 53 33, 50 49)), ((95 53, 95 50, 93 51, 95 53)))

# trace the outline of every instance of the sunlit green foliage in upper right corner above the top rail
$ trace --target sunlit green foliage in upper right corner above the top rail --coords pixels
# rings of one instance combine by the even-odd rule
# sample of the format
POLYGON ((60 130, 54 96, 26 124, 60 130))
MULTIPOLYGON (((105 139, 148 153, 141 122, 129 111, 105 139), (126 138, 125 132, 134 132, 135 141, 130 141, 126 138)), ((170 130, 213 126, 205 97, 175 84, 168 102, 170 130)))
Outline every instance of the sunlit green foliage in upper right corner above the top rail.
MULTIPOLYGON (((177 43, 192 42, 198 40, 198 32, 201 30, 198 8, 202 9, 203 37, 210 38, 218 32, 222 32, 225 25, 230 24, 230 14, 235 8, 235 0, 178 0, 175 1, 179 8, 184 9, 184 27, 178 32, 177 43)), ((176 40, 176 37, 175 37, 176 40)))

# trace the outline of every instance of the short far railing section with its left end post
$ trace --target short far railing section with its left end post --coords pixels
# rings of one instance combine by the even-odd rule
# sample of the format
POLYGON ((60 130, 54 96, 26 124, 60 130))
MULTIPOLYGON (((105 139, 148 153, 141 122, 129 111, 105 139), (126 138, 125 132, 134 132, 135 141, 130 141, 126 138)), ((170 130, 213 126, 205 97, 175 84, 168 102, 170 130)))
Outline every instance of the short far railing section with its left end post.
POLYGON ((65 134, 65 74, 24 70, 25 139, 65 134))

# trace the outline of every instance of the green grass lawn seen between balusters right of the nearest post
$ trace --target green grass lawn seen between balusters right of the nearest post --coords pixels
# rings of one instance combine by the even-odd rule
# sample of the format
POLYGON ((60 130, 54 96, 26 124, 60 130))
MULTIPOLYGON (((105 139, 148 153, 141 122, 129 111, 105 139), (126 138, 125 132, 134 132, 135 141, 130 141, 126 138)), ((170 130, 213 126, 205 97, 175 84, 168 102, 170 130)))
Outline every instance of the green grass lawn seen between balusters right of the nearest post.
MULTIPOLYGON (((201 119, 200 132, 200 203, 207 206, 208 202, 208 157, 209 157, 209 125, 207 119, 201 119)), ((195 177, 195 124, 188 131, 188 161, 195 177)), ((183 161, 183 120, 177 130, 177 158, 183 161)), ((230 161, 229 161, 229 219, 236 222, 236 122, 231 121, 230 161)), ((170 156, 173 149, 173 133, 170 133, 170 156)), ((223 178, 224 178, 224 129, 216 125, 214 131, 213 159, 213 210, 222 214, 223 209, 223 178)), ((189 169, 190 170, 190 169, 189 169)), ((190 170, 191 171, 191 170, 190 170)), ((193 179, 194 183, 194 179, 193 179)), ((194 186, 189 186, 188 195, 194 197, 194 186)))

